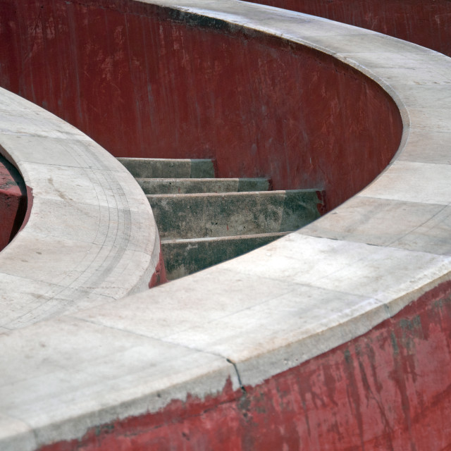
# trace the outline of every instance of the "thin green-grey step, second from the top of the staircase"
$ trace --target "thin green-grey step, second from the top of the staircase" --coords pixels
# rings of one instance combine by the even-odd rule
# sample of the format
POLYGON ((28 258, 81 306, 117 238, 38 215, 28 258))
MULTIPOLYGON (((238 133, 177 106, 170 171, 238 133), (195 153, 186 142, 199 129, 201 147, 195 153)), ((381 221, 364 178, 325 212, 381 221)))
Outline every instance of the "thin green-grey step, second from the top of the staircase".
POLYGON ((267 178, 137 178, 146 194, 268 191, 267 178))

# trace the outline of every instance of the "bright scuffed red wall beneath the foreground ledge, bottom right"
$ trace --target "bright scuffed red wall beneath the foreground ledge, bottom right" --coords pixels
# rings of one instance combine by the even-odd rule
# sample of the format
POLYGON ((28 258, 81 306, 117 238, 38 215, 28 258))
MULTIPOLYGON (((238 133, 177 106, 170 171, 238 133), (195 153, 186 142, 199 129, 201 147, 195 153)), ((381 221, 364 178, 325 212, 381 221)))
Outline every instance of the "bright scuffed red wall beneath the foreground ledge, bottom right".
POLYGON ((40 451, 451 449, 451 283, 256 387, 92 429, 40 451))

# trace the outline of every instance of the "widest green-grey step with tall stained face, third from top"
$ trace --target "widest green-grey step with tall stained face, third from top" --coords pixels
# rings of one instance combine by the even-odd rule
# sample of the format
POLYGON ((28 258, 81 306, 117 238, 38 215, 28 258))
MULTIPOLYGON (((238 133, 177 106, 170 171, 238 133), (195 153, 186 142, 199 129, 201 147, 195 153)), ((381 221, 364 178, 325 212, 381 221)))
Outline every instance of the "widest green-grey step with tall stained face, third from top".
POLYGON ((161 238, 297 230, 319 217, 316 190, 148 194, 161 238))

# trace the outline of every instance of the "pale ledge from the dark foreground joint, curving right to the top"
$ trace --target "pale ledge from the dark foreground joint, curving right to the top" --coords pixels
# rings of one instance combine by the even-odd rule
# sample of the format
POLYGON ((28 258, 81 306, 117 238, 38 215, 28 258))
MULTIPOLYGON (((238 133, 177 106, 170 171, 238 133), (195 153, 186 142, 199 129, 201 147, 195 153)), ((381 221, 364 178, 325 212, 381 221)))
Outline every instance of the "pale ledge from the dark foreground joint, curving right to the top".
POLYGON ((402 142, 373 183, 311 225, 79 319, 221 355, 244 385, 254 385, 361 335, 449 280, 451 58, 269 6, 148 3, 271 33, 350 64, 395 99, 402 142))

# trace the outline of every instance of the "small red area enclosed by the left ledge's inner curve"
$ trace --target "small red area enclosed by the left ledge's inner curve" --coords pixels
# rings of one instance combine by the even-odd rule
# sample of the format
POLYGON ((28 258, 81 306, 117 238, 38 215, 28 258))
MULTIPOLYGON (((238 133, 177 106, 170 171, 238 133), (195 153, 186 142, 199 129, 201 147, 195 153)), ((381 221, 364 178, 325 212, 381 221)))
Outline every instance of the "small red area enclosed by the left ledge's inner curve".
POLYGON ((27 211, 27 190, 16 168, 0 155, 0 250, 22 226, 27 211))

